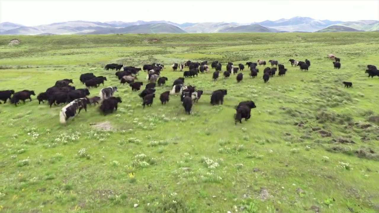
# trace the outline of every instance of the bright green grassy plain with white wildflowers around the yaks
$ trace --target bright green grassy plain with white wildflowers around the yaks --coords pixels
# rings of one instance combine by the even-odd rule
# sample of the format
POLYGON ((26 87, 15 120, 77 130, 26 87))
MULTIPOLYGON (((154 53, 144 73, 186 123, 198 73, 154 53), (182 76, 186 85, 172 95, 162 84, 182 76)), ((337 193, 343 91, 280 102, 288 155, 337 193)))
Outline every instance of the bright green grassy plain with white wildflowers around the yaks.
POLYGON ((67 126, 62 107, 36 96, 0 105, 1 212, 377 213, 379 79, 364 72, 379 66, 378 42, 378 33, 0 36, 0 90, 38 94, 64 78, 83 88, 80 74, 93 72, 123 101, 107 116, 91 106, 67 126), (9 47, 13 38, 21 44, 9 47), (309 72, 290 58, 310 60, 309 72), (245 70, 238 84, 212 82, 213 70, 188 78, 205 92, 191 115, 179 97, 143 110, 138 93, 103 70, 164 63, 160 94, 183 75, 173 62, 219 60, 224 70, 257 59, 288 72, 266 84, 262 71, 250 79, 245 70), (224 105, 210 105, 216 89, 228 89, 224 105), (235 125, 233 107, 249 99, 252 118, 235 125))

